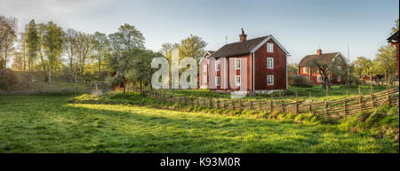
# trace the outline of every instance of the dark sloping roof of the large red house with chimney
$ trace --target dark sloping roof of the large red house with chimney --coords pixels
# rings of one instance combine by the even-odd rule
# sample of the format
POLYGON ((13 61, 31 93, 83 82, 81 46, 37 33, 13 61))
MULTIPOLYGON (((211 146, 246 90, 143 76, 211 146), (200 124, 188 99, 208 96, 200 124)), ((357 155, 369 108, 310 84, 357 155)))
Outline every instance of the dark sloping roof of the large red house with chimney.
POLYGON ((262 41, 264 41, 267 36, 262 36, 254 39, 250 39, 244 41, 243 43, 229 43, 225 46, 222 46, 220 50, 212 53, 212 58, 220 58, 220 57, 230 57, 235 55, 244 55, 250 54, 250 52, 259 45, 262 41))

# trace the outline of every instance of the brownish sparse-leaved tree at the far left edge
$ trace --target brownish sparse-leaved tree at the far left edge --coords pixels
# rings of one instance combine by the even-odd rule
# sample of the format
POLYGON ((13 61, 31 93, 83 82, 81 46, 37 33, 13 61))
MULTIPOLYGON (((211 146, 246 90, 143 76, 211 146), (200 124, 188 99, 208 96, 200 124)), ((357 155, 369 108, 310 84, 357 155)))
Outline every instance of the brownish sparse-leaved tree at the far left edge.
POLYGON ((13 44, 17 39, 17 19, 5 19, 0 16, 0 55, 4 56, 4 68, 7 67, 8 56, 13 51, 13 44))

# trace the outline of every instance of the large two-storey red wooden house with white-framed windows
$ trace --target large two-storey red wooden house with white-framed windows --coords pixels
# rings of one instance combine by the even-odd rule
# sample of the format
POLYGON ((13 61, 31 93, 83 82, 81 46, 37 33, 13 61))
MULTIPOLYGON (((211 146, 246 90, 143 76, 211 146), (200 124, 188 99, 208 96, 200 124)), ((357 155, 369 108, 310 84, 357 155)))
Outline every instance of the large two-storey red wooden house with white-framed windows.
POLYGON ((229 43, 200 62, 200 87, 216 91, 267 92, 287 89, 288 51, 272 35, 229 43))

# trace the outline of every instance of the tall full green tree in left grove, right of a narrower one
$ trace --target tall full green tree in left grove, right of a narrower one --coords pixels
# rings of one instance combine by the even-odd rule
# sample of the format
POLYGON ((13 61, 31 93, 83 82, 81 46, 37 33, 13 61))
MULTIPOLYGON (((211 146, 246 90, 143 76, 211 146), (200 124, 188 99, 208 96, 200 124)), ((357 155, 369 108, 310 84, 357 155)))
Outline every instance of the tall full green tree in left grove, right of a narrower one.
POLYGON ((47 58, 49 59, 49 78, 48 82, 52 80, 52 66, 61 55, 64 43, 64 32, 62 28, 50 21, 46 26, 44 35, 44 47, 46 49, 47 58))

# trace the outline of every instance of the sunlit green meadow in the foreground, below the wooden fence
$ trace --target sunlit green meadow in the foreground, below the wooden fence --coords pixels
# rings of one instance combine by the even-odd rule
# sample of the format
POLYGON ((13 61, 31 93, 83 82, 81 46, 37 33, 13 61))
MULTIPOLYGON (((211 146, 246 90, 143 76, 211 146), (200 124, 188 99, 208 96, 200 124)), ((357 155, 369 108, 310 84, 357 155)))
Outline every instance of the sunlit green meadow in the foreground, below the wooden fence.
POLYGON ((0 152, 396 152, 322 124, 0 97, 0 152))

